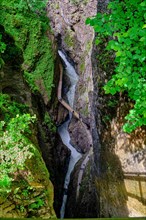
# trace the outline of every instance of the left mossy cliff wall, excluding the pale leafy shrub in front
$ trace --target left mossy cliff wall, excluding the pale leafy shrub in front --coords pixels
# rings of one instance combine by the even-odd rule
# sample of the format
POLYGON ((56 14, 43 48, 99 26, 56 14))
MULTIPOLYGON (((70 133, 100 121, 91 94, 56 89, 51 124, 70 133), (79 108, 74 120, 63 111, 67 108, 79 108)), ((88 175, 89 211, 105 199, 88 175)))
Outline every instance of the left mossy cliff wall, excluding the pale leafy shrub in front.
MULTIPOLYGON (((11 101, 27 105, 25 113, 36 114, 38 124, 42 126, 45 104, 51 99, 55 56, 51 40, 48 39, 50 32, 47 33, 47 20, 41 13, 27 8, 27 2, 30 1, 1 2, 0 34, 6 49, 1 56, 0 92, 8 94, 11 101)), ((9 113, 9 110, 6 112, 9 113)), ((15 118, 15 114, 9 116, 15 118)), ((5 120, 4 115, 0 117, 5 120)), ((51 129, 53 122, 48 119, 47 123, 51 129)), ((38 130, 37 123, 35 126, 31 124, 31 135, 26 135, 33 146, 29 148, 26 145, 32 156, 24 161, 21 169, 17 167, 15 171, 8 173, 12 181, 8 190, 0 192, 0 217, 55 218, 53 185, 40 153, 38 130)), ((21 149, 22 158, 23 150, 24 148, 21 149)), ((18 154, 16 151, 13 153, 18 154)), ((18 157, 22 159, 20 155, 18 157)))

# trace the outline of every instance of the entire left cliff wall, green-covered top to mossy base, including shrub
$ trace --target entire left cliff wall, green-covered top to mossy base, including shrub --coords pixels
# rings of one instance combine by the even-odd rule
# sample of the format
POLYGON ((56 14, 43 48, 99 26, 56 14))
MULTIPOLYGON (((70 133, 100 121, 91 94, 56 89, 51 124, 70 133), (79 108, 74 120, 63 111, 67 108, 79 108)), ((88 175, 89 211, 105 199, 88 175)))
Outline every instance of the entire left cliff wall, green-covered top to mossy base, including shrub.
POLYGON ((0 132, 0 217, 55 218, 48 171, 56 132, 50 114, 55 103, 51 92, 55 50, 45 23, 27 10, 25 2, 17 3, 2 1, 1 7, 1 40, 6 48, 0 60, 0 120, 5 125, 0 132), (35 123, 23 120, 30 115, 35 115, 35 123), (46 149, 46 164, 41 149, 46 149))

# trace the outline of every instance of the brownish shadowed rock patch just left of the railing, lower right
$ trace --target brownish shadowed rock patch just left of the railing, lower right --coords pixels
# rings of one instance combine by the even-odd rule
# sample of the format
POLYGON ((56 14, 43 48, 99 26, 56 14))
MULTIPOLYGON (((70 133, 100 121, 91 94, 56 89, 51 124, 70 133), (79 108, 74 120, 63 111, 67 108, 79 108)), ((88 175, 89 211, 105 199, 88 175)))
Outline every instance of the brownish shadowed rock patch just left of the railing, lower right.
POLYGON ((100 217, 128 217, 128 196, 119 158, 109 149, 102 148, 100 166, 100 176, 95 181, 100 217))

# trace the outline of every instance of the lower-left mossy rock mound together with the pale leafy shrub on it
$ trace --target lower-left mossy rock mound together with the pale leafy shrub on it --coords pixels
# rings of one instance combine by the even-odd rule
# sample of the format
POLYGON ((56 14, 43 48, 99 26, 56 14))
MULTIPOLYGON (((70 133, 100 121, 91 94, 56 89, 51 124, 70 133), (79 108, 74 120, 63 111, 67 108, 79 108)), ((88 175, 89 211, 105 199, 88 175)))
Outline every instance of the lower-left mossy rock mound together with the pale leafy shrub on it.
POLYGON ((0 217, 54 218, 53 186, 32 141, 34 117, 5 94, 0 94, 0 109, 0 217))

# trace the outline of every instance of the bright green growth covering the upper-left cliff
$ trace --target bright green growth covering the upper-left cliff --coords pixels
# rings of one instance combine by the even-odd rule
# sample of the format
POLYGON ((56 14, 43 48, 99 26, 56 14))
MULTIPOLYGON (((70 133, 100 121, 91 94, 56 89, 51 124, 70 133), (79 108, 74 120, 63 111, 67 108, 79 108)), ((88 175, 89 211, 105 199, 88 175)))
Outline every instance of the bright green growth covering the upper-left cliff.
MULTIPOLYGON (((46 1, 2 0, 0 23, 5 32, 14 39, 16 47, 22 51, 21 66, 32 91, 42 92, 43 88, 50 99, 53 87, 54 55, 46 32, 49 29, 49 22, 45 7, 46 1)), ((9 44, 6 46, 10 47, 9 44)), ((3 51, 4 47, 5 42, 1 44, 3 51)))

